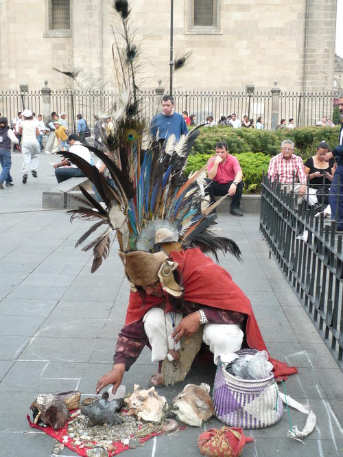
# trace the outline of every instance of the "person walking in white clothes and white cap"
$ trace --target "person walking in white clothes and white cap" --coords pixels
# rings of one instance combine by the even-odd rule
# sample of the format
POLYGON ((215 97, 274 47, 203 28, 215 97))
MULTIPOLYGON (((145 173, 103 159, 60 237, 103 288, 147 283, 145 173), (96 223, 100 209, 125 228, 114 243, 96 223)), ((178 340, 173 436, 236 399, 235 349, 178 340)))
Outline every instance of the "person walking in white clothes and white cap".
POLYGON ((23 119, 19 134, 22 135, 21 152, 23 152, 21 172, 23 174, 23 184, 26 184, 29 169, 32 176, 34 178, 37 177, 40 148, 37 141, 37 135, 39 135, 38 121, 34 120, 32 111, 25 109, 23 111, 23 119))

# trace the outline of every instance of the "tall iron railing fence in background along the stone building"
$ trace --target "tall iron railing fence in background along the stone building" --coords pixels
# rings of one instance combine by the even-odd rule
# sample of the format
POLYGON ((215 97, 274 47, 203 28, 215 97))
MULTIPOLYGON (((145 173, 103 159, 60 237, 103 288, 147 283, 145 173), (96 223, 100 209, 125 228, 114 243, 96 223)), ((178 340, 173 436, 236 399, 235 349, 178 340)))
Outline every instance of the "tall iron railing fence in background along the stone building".
MULTIPOLYGON (((75 124, 75 117, 81 113, 93 127, 94 115, 108 114, 113 109, 118 94, 115 91, 78 91, 74 89, 51 90, 48 97, 42 91, 0 91, 0 113, 13 119, 18 111, 29 108, 38 113, 67 113, 69 126, 75 124), (47 106, 48 105, 48 106, 47 106)), ((327 116, 333 118, 333 108, 337 103, 338 92, 281 92, 279 88, 271 91, 247 93, 246 91, 176 91, 174 93, 176 111, 186 110, 195 114, 197 121, 204 121, 212 115, 219 120, 222 115, 236 113, 239 119, 244 115, 254 119, 263 117, 264 128, 270 130, 272 118, 294 118, 294 126, 314 126, 316 121, 327 116)), ((141 110, 146 119, 151 119, 158 110, 161 95, 154 89, 139 92, 141 110)))

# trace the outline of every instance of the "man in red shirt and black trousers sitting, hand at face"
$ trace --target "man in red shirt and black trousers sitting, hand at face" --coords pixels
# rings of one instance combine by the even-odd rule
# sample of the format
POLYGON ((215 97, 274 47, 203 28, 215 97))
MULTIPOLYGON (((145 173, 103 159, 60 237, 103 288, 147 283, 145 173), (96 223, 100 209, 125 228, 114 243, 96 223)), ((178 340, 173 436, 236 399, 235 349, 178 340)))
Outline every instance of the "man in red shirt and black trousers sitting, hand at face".
POLYGON ((215 202, 215 196, 228 194, 233 198, 230 214, 243 215, 239 208, 243 193, 242 178, 241 165, 235 156, 228 154, 227 143, 225 141, 215 143, 215 156, 212 156, 207 163, 206 181, 209 185, 205 189, 211 203, 215 202))

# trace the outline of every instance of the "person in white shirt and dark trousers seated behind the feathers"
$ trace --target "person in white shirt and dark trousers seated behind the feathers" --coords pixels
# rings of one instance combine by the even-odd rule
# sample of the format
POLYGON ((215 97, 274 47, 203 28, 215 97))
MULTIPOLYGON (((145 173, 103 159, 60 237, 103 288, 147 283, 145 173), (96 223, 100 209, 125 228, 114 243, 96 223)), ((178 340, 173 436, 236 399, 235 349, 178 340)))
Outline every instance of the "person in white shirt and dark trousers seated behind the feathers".
MULTIPOLYGON (((71 134, 69 135, 69 152, 73 152, 77 156, 80 156, 82 159, 93 165, 93 160, 91 152, 88 148, 82 145, 78 135, 71 134)), ((54 164, 55 176, 58 183, 62 183, 69 178, 82 178, 84 173, 76 165, 71 164, 67 159, 62 158, 60 163, 54 164)))

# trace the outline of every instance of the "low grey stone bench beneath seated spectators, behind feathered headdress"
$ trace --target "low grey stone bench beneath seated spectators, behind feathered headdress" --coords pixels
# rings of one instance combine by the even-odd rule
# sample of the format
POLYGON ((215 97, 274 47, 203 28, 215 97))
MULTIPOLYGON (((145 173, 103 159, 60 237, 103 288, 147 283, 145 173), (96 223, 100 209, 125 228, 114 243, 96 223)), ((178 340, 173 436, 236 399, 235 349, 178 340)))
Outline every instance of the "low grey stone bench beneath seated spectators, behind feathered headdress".
MULTIPOLYGON (((63 183, 56 184, 55 187, 43 192, 43 208, 54 209, 76 209, 80 206, 80 202, 75 197, 83 198, 79 185, 86 188, 89 193, 94 196, 91 182, 88 178, 70 178, 63 183)), ((216 197, 216 200, 220 197, 216 197)), ((228 213, 230 211, 231 198, 226 197, 217 207, 218 213, 228 213)), ((244 195, 241 198, 241 211, 244 213, 260 213, 261 196, 260 195, 244 195)))

